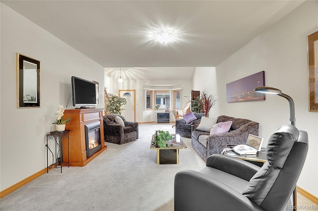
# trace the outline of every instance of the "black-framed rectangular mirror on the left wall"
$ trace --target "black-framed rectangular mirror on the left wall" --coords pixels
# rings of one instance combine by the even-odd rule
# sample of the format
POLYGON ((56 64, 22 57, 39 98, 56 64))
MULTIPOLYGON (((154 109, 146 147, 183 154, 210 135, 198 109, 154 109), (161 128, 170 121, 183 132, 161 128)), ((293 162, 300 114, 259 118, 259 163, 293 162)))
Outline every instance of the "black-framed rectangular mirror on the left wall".
POLYGON ((40 107, 40 61, 16 54, 17 107, 40 107))

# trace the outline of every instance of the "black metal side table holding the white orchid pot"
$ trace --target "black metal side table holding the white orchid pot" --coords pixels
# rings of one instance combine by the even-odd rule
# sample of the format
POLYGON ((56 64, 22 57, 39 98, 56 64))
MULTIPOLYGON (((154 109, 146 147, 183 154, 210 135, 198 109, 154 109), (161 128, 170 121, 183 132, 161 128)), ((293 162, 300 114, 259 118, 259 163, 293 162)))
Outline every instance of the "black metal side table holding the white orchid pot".
POLYGON ((65 131, 52 131, 49 134, 46 135, 46 164, 47 164, 47 173, 49 173, 50 168, 61 168, 62 173, 62 167, 68 165, 70 167, 70 159, 69 159, 69 132, 70 130, 65 131), (63 139, 68 139, 68 161, 63 162, 63 139), (54 141, 54 150, 55 153, 50 149, 49 147, 49 140, 54 141), (53 163, 49 165, 49 150, 53 157, 53 163), (58 155, 58 151, 60 151, 60 155, 58 155), (54 160, 55 155, 55 160, 54 160))

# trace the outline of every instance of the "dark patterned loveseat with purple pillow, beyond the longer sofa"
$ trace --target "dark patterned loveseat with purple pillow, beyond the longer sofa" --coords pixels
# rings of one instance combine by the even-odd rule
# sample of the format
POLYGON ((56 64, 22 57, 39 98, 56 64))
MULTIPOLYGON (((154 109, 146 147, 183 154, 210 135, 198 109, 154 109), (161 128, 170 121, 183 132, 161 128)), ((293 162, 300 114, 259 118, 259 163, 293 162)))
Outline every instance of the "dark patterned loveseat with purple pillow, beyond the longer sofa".
POLYGON ((197 120, 194 120, 190 123, 186 123, 184 119, 175 120, 175 134, 179 134, 181 137, 191 139, 191 127, 192 125, 199 125, 201 121, 201 117, 204 116, 204 113, 195 113, 194 116, 197 120))

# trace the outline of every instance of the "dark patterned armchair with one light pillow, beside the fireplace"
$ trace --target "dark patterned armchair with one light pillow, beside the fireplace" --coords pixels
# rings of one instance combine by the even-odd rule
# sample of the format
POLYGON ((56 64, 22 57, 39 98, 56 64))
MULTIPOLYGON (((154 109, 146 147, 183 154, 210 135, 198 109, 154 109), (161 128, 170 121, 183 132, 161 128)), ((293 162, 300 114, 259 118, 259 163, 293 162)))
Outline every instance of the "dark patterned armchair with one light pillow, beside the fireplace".
POLYGON ((128 122, 125 117, 118 114, 108 114, 104 119, 104 140, 111 143, 123 144, 138 139, 138 122, 128 122), (115 122, 119 116, 125 127, 115 122))

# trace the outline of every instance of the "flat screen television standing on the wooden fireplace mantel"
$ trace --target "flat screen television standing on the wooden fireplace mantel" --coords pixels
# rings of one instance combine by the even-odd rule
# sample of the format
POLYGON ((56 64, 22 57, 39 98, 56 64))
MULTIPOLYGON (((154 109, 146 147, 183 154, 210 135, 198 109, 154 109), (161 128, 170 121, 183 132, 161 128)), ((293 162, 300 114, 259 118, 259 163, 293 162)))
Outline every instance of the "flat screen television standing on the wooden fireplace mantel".
POLYGON ((98 107, 98 86, 76 76, 72 76, 73 106, 75 108, 98 107))

